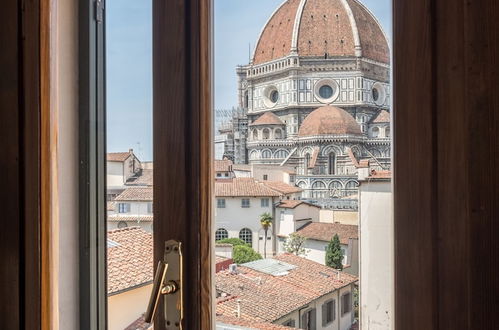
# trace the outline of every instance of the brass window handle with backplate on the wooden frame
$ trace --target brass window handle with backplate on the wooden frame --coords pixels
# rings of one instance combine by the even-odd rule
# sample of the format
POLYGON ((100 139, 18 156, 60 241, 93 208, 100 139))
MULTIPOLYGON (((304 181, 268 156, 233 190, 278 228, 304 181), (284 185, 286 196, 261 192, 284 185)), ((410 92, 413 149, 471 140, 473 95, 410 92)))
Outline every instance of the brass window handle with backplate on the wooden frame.
POLYGON ((181 244, 170 240, 165 243, 164 260, 158 262, 149 304, 144 319, 151 323, 164 297, 166 329, 182 329, 182 251, 181 244))

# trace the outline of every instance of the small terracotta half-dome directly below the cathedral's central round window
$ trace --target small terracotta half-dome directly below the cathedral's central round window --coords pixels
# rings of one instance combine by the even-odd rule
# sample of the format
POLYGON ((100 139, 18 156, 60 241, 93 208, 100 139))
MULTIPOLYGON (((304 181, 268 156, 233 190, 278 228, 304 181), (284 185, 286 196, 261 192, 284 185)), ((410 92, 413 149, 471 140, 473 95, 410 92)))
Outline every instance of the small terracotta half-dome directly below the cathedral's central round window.
POLYGON ((312 111, 298 131, 299 137, 317 135, 362 135, 362 131, 348 112, 328 105, 312 111))

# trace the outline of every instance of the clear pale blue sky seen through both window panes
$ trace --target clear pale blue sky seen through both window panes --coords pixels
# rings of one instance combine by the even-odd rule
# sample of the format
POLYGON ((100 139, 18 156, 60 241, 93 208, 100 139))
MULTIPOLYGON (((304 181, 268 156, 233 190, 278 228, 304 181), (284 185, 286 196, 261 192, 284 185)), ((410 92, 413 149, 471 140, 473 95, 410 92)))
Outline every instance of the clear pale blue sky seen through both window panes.
MULTIPOLYGON (((215 109, 237 106, 237 65, 283 0, 215 0, 215 109)), ((391 36, 391 0, 363 0, 391 36)), ((106 1, 107 149, 152 160, 151 0, 106 1)))

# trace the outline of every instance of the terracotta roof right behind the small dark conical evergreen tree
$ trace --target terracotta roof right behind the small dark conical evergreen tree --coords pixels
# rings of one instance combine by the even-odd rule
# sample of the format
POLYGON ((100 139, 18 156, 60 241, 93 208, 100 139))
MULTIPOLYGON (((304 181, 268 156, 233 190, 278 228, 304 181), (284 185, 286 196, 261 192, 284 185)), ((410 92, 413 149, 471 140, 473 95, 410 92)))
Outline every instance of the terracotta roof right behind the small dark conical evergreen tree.
POLYGON ((359 227, 340 223, 310 222, 296 231, 301 236, 316 241, 329 242, 338 234, 341 244, 348 244, 350 238, 359 238, 359 227))

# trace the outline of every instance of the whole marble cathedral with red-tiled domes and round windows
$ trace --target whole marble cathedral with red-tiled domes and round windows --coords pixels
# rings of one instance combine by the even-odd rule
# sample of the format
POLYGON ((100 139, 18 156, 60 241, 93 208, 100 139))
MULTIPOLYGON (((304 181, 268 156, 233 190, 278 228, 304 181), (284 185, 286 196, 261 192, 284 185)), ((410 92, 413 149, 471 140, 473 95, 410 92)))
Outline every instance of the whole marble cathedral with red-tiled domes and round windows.
POLYGON ((322 200, 355 199, 360 167, 390 169, 390 50, 359 1, 285 1, 236 72, 234 163, 292 168, 322 200))

